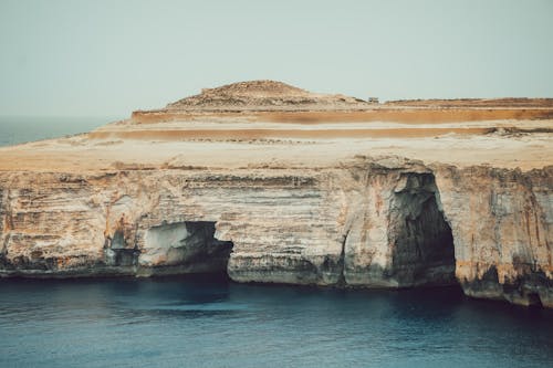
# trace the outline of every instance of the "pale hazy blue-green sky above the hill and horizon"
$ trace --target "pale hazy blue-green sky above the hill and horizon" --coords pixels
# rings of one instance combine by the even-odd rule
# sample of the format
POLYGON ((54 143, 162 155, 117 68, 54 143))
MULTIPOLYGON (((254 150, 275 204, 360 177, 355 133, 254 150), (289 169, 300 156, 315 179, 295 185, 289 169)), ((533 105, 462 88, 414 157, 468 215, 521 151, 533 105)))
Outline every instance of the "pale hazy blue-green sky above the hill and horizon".
POLYGON ((0 0, 0 115, 128 116, 239 81, 553 97, 552 0, 0 0))

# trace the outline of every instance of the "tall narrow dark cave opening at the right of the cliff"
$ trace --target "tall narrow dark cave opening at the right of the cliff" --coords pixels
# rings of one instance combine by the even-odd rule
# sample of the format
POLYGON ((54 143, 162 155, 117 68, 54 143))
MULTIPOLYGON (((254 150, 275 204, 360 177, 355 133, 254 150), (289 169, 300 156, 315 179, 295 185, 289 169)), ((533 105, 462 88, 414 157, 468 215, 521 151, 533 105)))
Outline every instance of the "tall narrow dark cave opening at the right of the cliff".
POLYGON ((404 178, 404 187, 393 199, 390 224, 392 272, 398 286, 458 284, 453 235, 441 210, 434 175, 404 178))

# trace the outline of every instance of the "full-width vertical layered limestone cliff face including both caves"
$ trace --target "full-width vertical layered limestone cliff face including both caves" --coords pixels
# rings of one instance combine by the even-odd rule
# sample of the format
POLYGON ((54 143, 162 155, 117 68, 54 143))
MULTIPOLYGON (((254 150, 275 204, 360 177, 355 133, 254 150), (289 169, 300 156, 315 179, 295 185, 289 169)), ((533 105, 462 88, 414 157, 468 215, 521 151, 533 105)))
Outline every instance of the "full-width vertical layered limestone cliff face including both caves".
POLYGON ((451 284, 553 307, 553 168, 357 158, 319 169, 0 174, 2 275, 227 272, 238 282, 451 284))

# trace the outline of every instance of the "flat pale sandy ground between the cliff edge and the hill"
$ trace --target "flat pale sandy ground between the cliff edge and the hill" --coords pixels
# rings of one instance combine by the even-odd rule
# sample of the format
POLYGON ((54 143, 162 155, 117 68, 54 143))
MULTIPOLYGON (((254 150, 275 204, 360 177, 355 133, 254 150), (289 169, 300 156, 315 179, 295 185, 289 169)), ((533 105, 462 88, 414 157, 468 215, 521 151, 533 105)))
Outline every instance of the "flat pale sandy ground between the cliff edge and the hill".
POLYGON ((326 167, 356 155, 523 170, 553 165, 553 119, 292 124, 258 118, 114 123, 87 135, 0 148, 0 170, 326 167))

